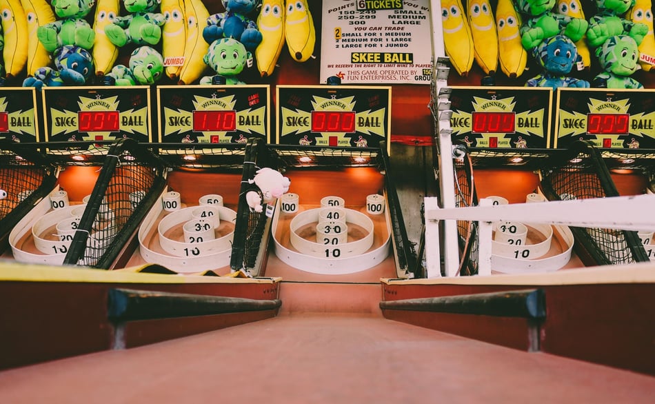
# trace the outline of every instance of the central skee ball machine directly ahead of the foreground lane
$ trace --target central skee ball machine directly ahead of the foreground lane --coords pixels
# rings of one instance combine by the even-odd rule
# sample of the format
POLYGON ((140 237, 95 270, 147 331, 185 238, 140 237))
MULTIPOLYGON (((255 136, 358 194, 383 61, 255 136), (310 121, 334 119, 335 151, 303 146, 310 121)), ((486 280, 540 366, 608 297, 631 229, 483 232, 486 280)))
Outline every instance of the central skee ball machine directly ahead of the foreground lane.
POLYGON ((388 87, 277 86, 269 150, 291 186, 274 214, 267 276, 420 276, 388 175, 390 98, 388 87))

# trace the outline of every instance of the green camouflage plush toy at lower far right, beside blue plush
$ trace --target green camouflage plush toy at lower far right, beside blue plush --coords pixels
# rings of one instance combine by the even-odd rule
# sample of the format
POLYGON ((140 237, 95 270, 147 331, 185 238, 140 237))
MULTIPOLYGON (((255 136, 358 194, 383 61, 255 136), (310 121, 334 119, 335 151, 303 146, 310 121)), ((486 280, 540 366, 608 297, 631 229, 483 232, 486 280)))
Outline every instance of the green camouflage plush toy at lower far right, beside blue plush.
POLYGON ((596 57, 605 71, 594 77, 594 87, 643 88, 629 77, 638 69, 639 51, 634 38, 628 35, 609 37, 596 48, 596 57))

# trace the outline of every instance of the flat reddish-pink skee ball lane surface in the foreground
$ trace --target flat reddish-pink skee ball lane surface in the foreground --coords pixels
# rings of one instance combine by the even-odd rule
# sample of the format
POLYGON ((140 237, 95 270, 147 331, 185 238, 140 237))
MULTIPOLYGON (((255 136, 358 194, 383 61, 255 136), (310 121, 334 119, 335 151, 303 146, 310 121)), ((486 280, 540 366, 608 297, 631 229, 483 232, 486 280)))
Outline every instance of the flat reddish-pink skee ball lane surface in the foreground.
POLYGON ((652 403, 655 378, 383 319, 300 314, 0 372, 1 403, 652 403))

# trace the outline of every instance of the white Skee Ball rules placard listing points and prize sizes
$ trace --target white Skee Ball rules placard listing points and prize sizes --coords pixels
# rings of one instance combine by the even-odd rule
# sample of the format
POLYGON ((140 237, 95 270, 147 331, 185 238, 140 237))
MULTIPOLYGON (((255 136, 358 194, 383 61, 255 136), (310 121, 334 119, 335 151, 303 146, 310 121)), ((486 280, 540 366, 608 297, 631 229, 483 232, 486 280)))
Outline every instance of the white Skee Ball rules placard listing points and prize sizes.
POLYGON ((430 84, 430 1, 323 1, 321 83, 430 84))

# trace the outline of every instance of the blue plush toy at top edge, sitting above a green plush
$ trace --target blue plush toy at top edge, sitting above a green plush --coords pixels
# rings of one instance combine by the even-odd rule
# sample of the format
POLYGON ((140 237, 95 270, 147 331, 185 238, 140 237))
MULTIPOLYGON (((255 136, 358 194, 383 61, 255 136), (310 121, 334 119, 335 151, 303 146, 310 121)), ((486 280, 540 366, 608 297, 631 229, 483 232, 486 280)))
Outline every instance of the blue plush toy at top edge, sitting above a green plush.
POLYGON ((234 38, 243 43, 247 50, 254 51, 262 37, 257 23, 248 18, 248 15, 259 7, 259 0, 221 1, 225 12, 210 15, 203 30, 203 38, 210 44, 216 39, 234 38))

